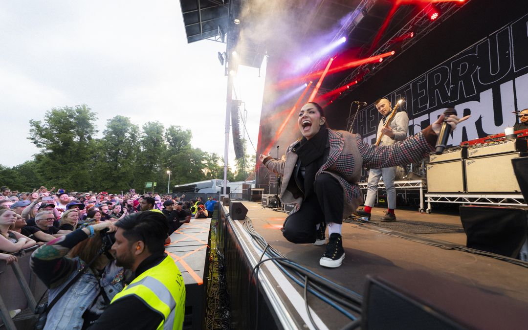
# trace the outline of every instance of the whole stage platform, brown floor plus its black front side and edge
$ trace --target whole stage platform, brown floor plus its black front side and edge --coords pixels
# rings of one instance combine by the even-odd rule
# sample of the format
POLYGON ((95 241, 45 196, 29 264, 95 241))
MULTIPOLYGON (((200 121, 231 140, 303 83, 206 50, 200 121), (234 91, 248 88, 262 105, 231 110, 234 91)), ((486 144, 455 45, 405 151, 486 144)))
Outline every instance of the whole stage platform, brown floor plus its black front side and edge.
MULTIPOLYGON (((520 260, 515 264, 461 251, 459 248, 465 248, 465 234, 457 215, 420 214, 417 211, 398 210, 399 221, 395 223, 343 223, 345 259, 340 268, 328 269, 319 266, 324 245, 293 244, 282 237, 280 228, 286 213, 263 209, 260 203, 256 202, 242 204, 248 209, 247 217, 252 227, 270 246, 300 266, 354 291, 359 296, 364 295, 367 275, 383 277, 409 272, 409 276, 415 277, 416 274, 431 274, 435 278, 447 280, 448 283, 467 287, 470 291, 485 293, 489 298, 487 303, 490 304, 495 301, 498 305, 504 305, 504 301, 507 301, 506 304, 511 303, 517 307, 528 306, 528 264, 520 260), (406 232, 398 231, 399 228, 406 232), (419 273, 415 273, 416 271, 419 273)), ((223 214, 228 212, 227 208, 222 208, 223 214)), ((376 219, 381 215, 381 209, 374 209, 372 221, 377 222, 376 219)), ((224 218, 219 227, 219 232, 222 231, 225 234, 222 239, 225 241, 223 249, 228 272, 233 328, 255 328, 256 323, 261 328, 263 325, 266 325, 266 328, 313 328, 306 313, 303 287, 285 276, 271 261, 264 262, 260 267, 259 310, 255 310, 257 297, 254 275, 249 279, 246 275, 251 274, 251 269, 257 265, 262 249, 252 240, 244 221, 226 221, 224 218), (265 310, 265 306, 268 306, 268 310, 265 310), (274 326, 271 325, 272 319, 275 320, 274 326)), ((262 258, 265 259, 266 256, 262 258)), ((417 280, 421 281, 421 278, 417 280)), ((427 278, 423 280, 431 282, 427 278)), ((438 283, 438 287, 434 284, 430 287, 431 292, 449 290, 449 287, 440 287, 441 284, 438 283)), ((456 295, 452 297, 454 302, 458 299, 461 298, 456 295)), ((308 301, 318 328, 336 329, 351 323, 351 318, 312 294, 308 294, 308 301)), ((469 305, 467 310, 461 312, 475 315, 469 305)), ((487 313, 491 317, 497 310, 483 310, 481 313, 487 313)), ((361 316, 361 313, 351 314, 354 317, 361 316)), ((497 317, 500 316, 494 316, 497 317)))

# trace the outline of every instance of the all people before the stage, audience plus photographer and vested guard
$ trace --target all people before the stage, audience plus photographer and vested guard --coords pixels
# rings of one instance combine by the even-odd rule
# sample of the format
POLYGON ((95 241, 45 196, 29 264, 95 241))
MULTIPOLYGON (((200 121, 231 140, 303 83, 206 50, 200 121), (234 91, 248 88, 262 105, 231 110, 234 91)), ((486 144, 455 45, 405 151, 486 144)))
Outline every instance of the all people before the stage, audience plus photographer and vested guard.
POLYGON ((31 267, 49 288, 41 328, 181 328, 185 285, 165 244, 191 218, 211 218, 215 204, 212 197, 204 202, 133 190, 42 186, 29 193, 4 186, 0 260, 17 262, 13 253, 40 246, 31 267))

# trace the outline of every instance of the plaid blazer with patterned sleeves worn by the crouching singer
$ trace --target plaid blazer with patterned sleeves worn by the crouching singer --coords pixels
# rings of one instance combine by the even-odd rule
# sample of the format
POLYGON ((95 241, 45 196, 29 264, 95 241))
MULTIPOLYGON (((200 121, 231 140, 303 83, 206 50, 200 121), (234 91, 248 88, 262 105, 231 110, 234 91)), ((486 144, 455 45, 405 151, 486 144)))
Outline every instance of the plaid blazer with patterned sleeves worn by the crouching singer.
MULTIPOLYGON (((430 127, 424 130, 428 135, 431 132, 430 127)), ((316 177, 321 173, 328 173, 341 184, 344 192, 343 219, 352 214, 363 201, 360 187, 357 185, 361 177, 361 168, 363 166, 392 167, 420 161, 434 149, 427 142, 424 133, 420 132, 390 146, 376 147, 365 143, 360 135, 328 128, 328 159, 319 168, 316 177)), ((300 139, 288 146, 284 160, 275 161, 271 157, 264 160, 265 166, 270 171, 282 175, 280 199, 284 203, 295 203, 293 212, 296 212, 303 203, 302 197, 295 198, 294 194, 287 190, 298 158, 292 150, 299 143, 300 139)))

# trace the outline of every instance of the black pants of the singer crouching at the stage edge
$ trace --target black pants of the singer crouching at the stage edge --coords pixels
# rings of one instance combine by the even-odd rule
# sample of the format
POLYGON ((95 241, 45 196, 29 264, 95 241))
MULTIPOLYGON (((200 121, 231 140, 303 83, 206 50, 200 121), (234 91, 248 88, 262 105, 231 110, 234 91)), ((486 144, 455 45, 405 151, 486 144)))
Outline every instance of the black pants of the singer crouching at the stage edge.
POLYGON ((299 211, 290 215, 282 228, 282 235, 293 243, 313 243, 316 225, 322 222, 343 222, 343 188, 326 173, 319 174, 314 183, 315 193, 308 196, 299 211))

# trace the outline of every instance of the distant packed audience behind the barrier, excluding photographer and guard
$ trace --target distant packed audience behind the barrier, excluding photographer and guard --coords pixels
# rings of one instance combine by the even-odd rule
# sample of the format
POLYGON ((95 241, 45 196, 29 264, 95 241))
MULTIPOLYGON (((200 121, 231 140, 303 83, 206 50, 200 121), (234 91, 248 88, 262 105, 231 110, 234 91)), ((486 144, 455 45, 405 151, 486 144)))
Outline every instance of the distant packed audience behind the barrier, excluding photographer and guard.
POLYGON ((185 200, 185 194, 55 192, 55 188, 44 186, 32 193, 11 191, 6 186, 0 190, 0 260, 10 262, 14 257, 6 253, 52 241, 87 221, 117 221, 127 214, 159 210, 168 220, 170 234, 191 218, 211 218, 216 203, 212 197, 205 202, 202 197, 185 200))

